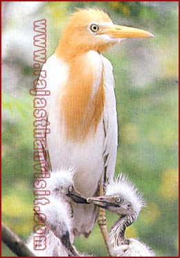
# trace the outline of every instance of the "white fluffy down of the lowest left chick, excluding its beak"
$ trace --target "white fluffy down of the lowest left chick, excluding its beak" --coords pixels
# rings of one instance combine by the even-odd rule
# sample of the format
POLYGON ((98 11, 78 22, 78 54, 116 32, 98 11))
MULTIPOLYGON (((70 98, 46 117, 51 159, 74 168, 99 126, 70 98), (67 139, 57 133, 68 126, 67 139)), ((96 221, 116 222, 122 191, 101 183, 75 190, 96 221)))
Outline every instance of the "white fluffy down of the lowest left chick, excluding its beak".
MULTIPOLYGON (((64 202, 64 199, 55 200, 55 198, 50 199, 51 204, 44 208, 44 214, 46 214, 46 225, 48 226, 45 233, 42 235, 42 230, 37 231, 37 234, 32 234, 28 239, 28 248, 37 257, 67 257, 69 256, 65 246, 59 237, 53 232, 53 225, 57 227, 59 225, 59 236, 63 236, 66 232, 71 231, 71 211, 69 206, 64 202), (70 214, 69 214, 70 212, 70 214), (39 233, 38 233, 39 232, 39 233), (42 236, 44 239, 42 240, 42 236), (35 243, 40 241, 42 249, 38 250, 35 243), (45 247, 45 248, 44 248, 45 247)), ((39 247, 38 247, 39 248, 39 247)))

